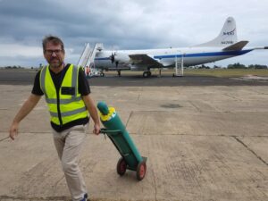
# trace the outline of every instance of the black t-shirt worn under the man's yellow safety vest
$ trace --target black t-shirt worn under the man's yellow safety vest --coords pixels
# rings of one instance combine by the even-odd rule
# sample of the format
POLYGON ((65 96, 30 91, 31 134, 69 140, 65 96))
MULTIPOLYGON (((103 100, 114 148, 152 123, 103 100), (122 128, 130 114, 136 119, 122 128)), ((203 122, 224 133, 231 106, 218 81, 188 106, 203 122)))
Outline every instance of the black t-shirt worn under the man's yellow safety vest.
MULTIPOLYGON (((60 71, 58 73, 54 73, 53 71, 51 71, 49 69, 51 77, 52 77, 52 80, 54 81, 54 86, 56 88, 57 93, 59 92, 59 90, 61 88, 63 78, 65 76, 65 72, 68 70, 69 67, 70 67, 70 64, 67 64, 64 67, 63 71, 60 71)), ((85 72, 83 71, 82 68, 80 68, 80 71, 79 71, 78 84, 79 84, 79 86, 78 86, 79 93, 81 94, 81 96, 87 96, 88 94, 90 94, 90 88, 89 88, 89 85, 88 85, 88 80, 87 80, 85 72)), ((38 71, 38 73, 36 75, 34 86, 33 86, 32 90, 31 90, 31 93, 34 94, 34 95, 37 95, 37 96, 43 96, 44 95, 44 92, 40 88, 40 71, 38 71)), ((56 130, 57 132, 61 132, 63 130, 70 129, 73 126, 87 124, 88 121, 89 121, 89 118, 86 117, 86 118, 82 118, 82 119, 78 119, 78 120, 75 120, 75 121, 68 122, 68 123, 66 123, 64 125, 56 125, 52 121, 50 123, 51 123, 51 126, 52 126, 52 128, 54 130, 56 130)))

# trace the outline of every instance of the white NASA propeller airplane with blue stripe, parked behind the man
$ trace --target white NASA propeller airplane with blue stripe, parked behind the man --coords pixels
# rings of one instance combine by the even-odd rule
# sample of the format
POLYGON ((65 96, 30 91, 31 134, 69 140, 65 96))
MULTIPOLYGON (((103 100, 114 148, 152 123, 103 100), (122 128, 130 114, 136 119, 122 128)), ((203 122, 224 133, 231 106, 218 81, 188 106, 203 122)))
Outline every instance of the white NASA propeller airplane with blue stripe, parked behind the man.
POLYGON ((121 71, 131 70, 144 71, 143 77, 150 77, 151 69, 159 69, 161 73, 163 68, 175 68, 174 76, 178 74, 178 65, 183 73, 184 66, 213 63, 247 54, 255 49, 268 49, 268 46, 243 49, 247 43, 247 40, 238 42, 236 22, 233 17, 228 17, 216 38, 197 46, 114 51, 105 50, 103 44, 96 44, 91 60, 102 76, 105 75, 104 71, 118 71, 120 76, 121 71))

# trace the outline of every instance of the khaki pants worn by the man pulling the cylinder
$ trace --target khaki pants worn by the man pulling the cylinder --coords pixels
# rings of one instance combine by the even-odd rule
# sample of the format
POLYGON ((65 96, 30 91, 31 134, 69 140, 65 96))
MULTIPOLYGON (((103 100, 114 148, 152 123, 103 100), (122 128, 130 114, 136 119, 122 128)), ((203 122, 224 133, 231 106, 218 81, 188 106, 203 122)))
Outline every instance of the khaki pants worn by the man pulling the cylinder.
POLYGON ((54 146, 62 162, 63 172, 73 201, 81 200, 87 193, 86 184, 78 166, 87 126, 88 124, 74 126, 62 132, 53 130, 54 146))

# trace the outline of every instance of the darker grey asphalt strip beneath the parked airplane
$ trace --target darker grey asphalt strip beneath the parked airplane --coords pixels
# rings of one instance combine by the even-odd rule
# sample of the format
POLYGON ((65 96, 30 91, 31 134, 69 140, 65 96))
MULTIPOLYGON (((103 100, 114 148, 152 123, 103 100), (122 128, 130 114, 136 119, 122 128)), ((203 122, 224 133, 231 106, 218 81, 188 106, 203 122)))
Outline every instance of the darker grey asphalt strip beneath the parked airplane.
MULTIPOLYGON (((32 85, 37 71, 30 70, 1 70, 0 85, 32 85)), ((90 86, 267 86, 268 80, 216 78, 209 76, 162 77, 152 76, 143 78, 141 75, 107 75, 88 79, 90 86)))

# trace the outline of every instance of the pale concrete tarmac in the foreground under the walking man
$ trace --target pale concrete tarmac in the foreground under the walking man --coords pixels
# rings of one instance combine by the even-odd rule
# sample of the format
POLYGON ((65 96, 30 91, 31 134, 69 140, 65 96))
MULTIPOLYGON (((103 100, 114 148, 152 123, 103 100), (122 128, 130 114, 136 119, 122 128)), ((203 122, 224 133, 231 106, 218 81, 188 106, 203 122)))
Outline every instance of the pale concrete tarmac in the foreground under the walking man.
MULTIPOLYGON (((119 176, 118 151, 89 125, 80 169, 90 200, 268 200, 268 87, 162 84, 91 85, 95 102, 115 107, 147 156, 147 175, 142 181, 136 172, 119 176)), ((44 98, 21 121, 18 138, 7 138, 30 90, 28 84, 0 85, 0 200, 71 200, 44 98)))

